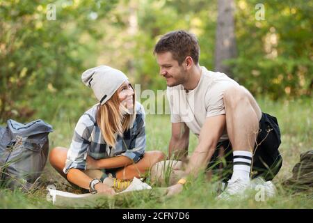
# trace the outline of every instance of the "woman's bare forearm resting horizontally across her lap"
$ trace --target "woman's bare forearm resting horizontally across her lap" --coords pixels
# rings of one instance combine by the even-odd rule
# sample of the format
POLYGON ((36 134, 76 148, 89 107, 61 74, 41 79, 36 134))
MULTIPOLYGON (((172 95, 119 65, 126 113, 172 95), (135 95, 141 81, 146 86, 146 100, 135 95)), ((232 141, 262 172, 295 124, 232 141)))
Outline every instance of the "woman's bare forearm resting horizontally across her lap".
POLYGON ((133 163, 133 160, 129 159, 129 157, 126 157, 125 155, 120 155, 116 157, 97 160, 97 167, 99 169, 112 169, 118 167, 127 167, 128 165, 133 163))

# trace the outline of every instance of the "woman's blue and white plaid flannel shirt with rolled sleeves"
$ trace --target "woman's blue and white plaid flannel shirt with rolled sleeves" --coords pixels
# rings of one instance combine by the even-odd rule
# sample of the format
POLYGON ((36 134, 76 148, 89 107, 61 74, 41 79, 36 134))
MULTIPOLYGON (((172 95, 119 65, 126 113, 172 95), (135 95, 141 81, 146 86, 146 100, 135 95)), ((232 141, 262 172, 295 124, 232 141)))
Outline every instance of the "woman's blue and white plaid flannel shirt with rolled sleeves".
POLYGON ((125 155, 134 162, 138 162, 145 153, 145 110, 143 106, 136 102, 134 124, 124 132, 123 137, 118 135, 115 148, 111 148, 104 141, 101 130, 97 126, 95 118, 97 105, 99 104, 85 112, 77 122, 63 169, 65 174, 71 168, 85 170, 87 155, 96 160, 125 155))

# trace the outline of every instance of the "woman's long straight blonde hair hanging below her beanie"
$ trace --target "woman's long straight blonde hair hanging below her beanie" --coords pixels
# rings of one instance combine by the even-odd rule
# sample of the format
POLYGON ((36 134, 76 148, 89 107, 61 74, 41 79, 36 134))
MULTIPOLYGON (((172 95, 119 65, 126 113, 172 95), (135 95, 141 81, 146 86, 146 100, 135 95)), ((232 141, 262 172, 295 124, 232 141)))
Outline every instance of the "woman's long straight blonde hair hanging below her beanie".
MULTIPOLYGON (((131 88, 133 88, 131 86, 131 88)), ((134 89, 133 89, 134 90, 134 89)), ((112 97, 104 103, 104 105, 98 105, 97 107, 97 125, 99 126, 104 141, 109 146, 115 148, 116 137, 127 131, 136 118, 136 97, 133 95, 133 111, 131 114, 122 114, 120 109, 120 98, 118 98, 118 91, 112 95, 112 97), (117 135, 115 135, 117 133, 117 135)))

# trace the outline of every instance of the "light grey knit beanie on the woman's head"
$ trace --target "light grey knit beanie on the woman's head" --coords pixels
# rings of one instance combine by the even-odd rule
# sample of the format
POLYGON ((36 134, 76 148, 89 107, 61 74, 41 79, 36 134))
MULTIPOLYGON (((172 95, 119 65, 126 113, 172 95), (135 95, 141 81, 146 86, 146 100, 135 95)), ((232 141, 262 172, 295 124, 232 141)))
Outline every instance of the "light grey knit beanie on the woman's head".
POLYGON ((83 84, 93 89, 97 100, 103 105, 128 78, 120 70, 109 66, 97 66, 83 72, 81 80, 83 84))

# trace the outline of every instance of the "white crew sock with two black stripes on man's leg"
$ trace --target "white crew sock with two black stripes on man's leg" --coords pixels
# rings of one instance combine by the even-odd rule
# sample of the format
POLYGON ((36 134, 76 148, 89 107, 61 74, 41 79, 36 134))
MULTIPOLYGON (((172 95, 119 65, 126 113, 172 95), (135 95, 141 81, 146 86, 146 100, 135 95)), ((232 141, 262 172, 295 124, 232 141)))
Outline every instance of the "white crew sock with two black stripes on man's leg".
POLYGON ((252 161, 252 153, 248 151, 234 151, 234 171, 230 180, 234 181, 238 178, 242 180, 250 180, 250 169, 252 161))

